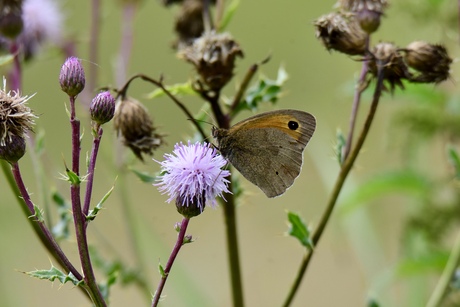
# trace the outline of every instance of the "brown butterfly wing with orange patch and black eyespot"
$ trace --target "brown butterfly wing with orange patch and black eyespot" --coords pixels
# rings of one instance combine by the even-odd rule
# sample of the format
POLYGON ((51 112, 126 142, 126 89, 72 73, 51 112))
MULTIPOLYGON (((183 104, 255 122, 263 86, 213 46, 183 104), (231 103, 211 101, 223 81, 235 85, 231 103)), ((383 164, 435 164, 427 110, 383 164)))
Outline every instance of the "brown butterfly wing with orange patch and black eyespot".
POLYGON ((268 197, 283 194, 302 167, 302 152, 316 127, 297 110, 262 113, 244 120, 219 141, 222 154, 268 197))

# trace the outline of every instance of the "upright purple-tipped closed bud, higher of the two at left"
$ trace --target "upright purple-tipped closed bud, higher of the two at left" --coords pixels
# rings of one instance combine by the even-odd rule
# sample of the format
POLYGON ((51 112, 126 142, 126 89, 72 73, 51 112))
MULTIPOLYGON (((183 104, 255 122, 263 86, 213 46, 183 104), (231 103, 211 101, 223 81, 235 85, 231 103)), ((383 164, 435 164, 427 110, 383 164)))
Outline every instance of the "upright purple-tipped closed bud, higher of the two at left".
POLYGON ((85 71, 76 57, 68 58, 61 68, 59 83, 64 93, 75 97, 85 88, 85 71))

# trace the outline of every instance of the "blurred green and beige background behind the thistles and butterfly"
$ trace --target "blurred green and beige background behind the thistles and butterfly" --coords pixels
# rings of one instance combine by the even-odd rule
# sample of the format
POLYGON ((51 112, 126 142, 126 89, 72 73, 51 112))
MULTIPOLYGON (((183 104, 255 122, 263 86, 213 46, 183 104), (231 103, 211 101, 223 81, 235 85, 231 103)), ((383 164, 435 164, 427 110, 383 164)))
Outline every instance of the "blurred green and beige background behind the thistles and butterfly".
MULTIPOLYGON (((379 31, 373 35, 373 42, 390 41, 398 46, 406 46, 414 40, 442 42, 455 58, 459 51, 458 29, 452 21, 457 18, 457 7, 454 1, 447 2, 407 0, 391 3, 379 31), (433 10, 430 7, 433 3, 441 3, 442 9, 433 10)), ((361 65, 343 54, 327 52, 315 38, 312 22, 332 11, 334 4, 332 0, 242 0, 228 28, 245 54, 244 59, 237 61, 234 80, 241 81, 251 64, 271 55, 270 62, 261 67, 261 73, 274 79, 279 66, 283 65, 290 78, 279 103, 274 107, 266 105, 263 110, 306 110, 314 114, 318 122, 317 131, 304 153, 303 171, 286 194, 267 199, 256 187, 242 181, 246 194, 241 198, 237 213, 247 306, 279 306, 283 302, 304 253, 294 239, 285 235, 288 228, 285 211, 298 212, 307 223, 316 225, 339 171, 334 158, 336 130, 348 132, 354 80, 361 65)), ((89 1, 61 1, 60 5, 66 15, 66 34, 77 39, 78 56, 83 59, 85 69, 96 66, 100 77, 98 86, 115 85, 114 63, 121 31, 118 2, 103 3, 98 63, 86 61, 89 1)), ((177 8, 167 9, 159 1, 143 2, 135 17, 129 75, 142 72, 157 78, 163 74, 166 84, 182 83, 193 76, 191 65, 178 60, 171 49, 176 14, 177 8)), ((67 97, 58 83, 62 63, 57 51, 48 49, 43 52, 24 68, 23 92, 37 93, 30 100, 30 106, 40 116, 36 130, 46 134, 47 184, 51 190, 59 189, 68 196, 67 184, 59 180, 59 173, 64 172, 63 157, 70 161, 70 126, 65 111, 67 97)), ((423 88, 433 97, 438 97, 433 94, 437 91, 449 93, 447 95, 455 105, 458 102, 453 96, 457 75, 454 63, 452 80, 423 88)), ((235 88, 236 84, 232 82, 226 87, 225 94, 233 95, 235 88)), ((189 139, 193 130, 170 100, 145 99, 153 89, 146 83, 135 82, 129 93, 145 103, 155 124, 167 134, 168 145, 155 154, 156 159, 161 159, 176 142, 189 139)), ((197 97, 184 97, 183 101, 193 112, 202 108, 197 97)), ((369 101, 370 95, 365 95, 358 125, 362 123, 369 101)), ((383 197, 369 196, 365 205, 360 202, 360 206, 347 213, 340 210, 340 205, 347 203, 347 197, 363 183, 381 173, 398 171, 405 165, 408 156, 402 148, 407 142, 407 134, 403 128, 395 126, 394 119, 398 114, 410 112, 417 103, 415 95, 403 94, 400 90, 394 95, 385 94, 364 150, 347 180, 339 208, 316 249, 293 306, 365 306, 370 297, 376 297, 382 306, 425 304, 442 266, 405 276, 395 273, 404 257, 407 218, 421 208, 417 201, 390 189, 388 193, 382 193, 383 197)), ((239 119, 250 115, 246 112, 239 119)), ((80 108, 78 117, 85 130, 84 157, 90 149, 90 126, 83 108, 80 108)), ((111 128, 110 124, 105 128, 95 175, 94 201, 105 194, 117 176, 113 168, 115 135, 111 128)), ((412 166, 427 177, 447 178, 451 175, 445 150, 447 141, 442 138, 426 140, 417 147, 419 155, 411 161, 412 166)), ((20 164, 26 185, 34 197, 37 185, 30 157, 26 155, 20 164)), ((145 165, 135 164, 135 168, 150 173, 159 169, 149 159, 145 165)), ((116 189, 119 188, 117 184, 116 189)), ((147 276, 153 293, 159 280, 158 261, 166 263, 176 238, 173 226, 181 216, 173 204, 165 203, 165 195, 160 195, 151 185, 141 183, 133 174, 129 174, 123 184, 127 185, 131 206, 137 214, 142 256, 148 263, 147 276)), ((458 189, 453 182, 446 181, 445 184, 458 189)), ((61 286, 58 282, 52 285, 21 273, 47 269, 52 261, 31 231, 3 175, 0 176, 0 193, 0 305, 88 306, 86 298, 71 285, 61 286)), ((449 196, 441 193, 440 197, 449 196)), ((133 264, 132 246, 117 193, 112 194, 104 207, 106 209, 90 224, 90 243, 97 246, 107 259, 123 259, 133 264)), ((176 259, 161 306, 231 306, 224 227, 222 208, 207 209, 192 220, 188 233, 196 242, 186 245, 176 259)), ((442 237, 447 242, 446 251, 448 243, 455 238, 452 229, 442 237)), ((65 242, 63 248, 78 263, 75 242, 65 242)), ((443 261, 445 258, 441 259, 443 261)), ((134 286, 121 287, 118 284, 111 290, 110 303, 111 306, 148 305, 134 286)))

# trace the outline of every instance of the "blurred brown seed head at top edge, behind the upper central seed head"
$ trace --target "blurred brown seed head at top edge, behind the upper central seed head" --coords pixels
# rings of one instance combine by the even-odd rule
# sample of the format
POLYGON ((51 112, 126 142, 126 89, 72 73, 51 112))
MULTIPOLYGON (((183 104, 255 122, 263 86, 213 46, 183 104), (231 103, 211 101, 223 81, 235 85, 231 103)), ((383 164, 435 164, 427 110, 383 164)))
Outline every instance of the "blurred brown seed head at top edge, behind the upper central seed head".
POLYGON ((203 1, 188 0, 181 7, 176 17, 175 31, 179 36, 177 49, 182 49, 193 43, 204 32, 203 1))

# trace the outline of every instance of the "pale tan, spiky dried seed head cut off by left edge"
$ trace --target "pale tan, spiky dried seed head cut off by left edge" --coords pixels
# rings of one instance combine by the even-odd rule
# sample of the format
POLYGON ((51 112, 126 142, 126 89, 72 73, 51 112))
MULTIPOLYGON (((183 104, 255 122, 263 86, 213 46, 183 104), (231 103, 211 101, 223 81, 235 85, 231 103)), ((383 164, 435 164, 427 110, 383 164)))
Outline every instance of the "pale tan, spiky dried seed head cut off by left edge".
POLYGON ((36 116, 26 105, 31 97, 21 96, 17 91, 6 92, 6 80, 0 89, 0 146, 12 142, 14 136, 23 138, 32 131, 36 116))

